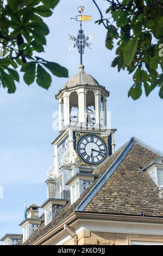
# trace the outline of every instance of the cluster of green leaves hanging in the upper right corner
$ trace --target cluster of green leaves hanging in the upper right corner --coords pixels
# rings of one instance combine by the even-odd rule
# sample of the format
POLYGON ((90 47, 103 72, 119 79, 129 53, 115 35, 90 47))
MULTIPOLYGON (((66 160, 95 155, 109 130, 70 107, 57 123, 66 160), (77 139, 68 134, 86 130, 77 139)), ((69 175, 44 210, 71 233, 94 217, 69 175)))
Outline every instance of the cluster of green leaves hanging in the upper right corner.
MULTIPOLYGON (((144 88, 148 96, 159 88, 163 98, 163 0, 106 0, 107 19, 98 20, 107 29, 105 45, 117 42, 112 67, 133 73, 134 84, 128 96, 139 99, 144 88)), ((95 2, 95 1, 93 1, 95 2)))

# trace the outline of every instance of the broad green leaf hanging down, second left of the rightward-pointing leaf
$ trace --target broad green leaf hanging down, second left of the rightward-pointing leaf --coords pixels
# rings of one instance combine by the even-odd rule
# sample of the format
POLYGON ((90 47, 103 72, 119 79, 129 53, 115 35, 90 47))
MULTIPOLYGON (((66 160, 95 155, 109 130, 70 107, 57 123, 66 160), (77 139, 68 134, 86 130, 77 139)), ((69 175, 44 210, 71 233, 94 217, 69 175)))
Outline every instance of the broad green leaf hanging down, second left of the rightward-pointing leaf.
POLYGON ((25 72, 23 78, 28 85, 32 84, 35 80, 35 69, 36 69, 35 62, 28 62, 22 66, 21 71, 25 72))

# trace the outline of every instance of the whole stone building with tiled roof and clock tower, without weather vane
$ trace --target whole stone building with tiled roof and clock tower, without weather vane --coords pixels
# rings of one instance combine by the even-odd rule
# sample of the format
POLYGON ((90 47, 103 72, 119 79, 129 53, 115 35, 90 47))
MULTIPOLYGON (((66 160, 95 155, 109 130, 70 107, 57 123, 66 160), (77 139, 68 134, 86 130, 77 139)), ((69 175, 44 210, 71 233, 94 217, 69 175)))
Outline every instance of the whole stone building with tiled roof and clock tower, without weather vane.
POLYGON ((55 96, 59 134, 47 200, 27 209, 17 245, 163 245, 163 153, 131 138, 115 151, 108 90, 79 66, 55 96))

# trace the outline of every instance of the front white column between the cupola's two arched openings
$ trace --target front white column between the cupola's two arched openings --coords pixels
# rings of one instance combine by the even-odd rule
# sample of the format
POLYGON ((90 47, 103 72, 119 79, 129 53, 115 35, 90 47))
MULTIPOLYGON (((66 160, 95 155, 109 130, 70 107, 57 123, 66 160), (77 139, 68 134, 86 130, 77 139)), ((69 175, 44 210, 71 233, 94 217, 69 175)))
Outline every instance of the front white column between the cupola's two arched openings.
POLYGON ((86 92, 84 88, 78 90, 79 124, 86 124, 86 92))

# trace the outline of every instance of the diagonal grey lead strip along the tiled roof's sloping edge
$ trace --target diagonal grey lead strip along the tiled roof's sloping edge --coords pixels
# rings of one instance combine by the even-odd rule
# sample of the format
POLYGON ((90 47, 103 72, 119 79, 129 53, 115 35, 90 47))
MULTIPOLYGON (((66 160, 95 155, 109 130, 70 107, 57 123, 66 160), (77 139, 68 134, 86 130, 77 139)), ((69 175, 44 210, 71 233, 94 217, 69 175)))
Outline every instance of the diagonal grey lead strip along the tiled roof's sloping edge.
POLYGON ((97 181, 95 186, 92 187, 92 189, 89 191, 89 193, 86 194, 84 199, 78 204, 76 211, 84 211, 86 208, 87 204, 90 203, 92 198, 97 194, 97 192, 102 188, 102 186, 105 184, 105 182, 110 178, 112 173, 117 169, 117 167, 121 164, 123 161, 124 157, 127 156, 129 153, 130 149, 133 147, 135 144, 135 138, 132 137, 126 147, 121 151, 120 155, 118 155, 115 159, 115 161, 111 164, 111 166, 106 170, 106 172, 101 176, 101 178, 97 181))

